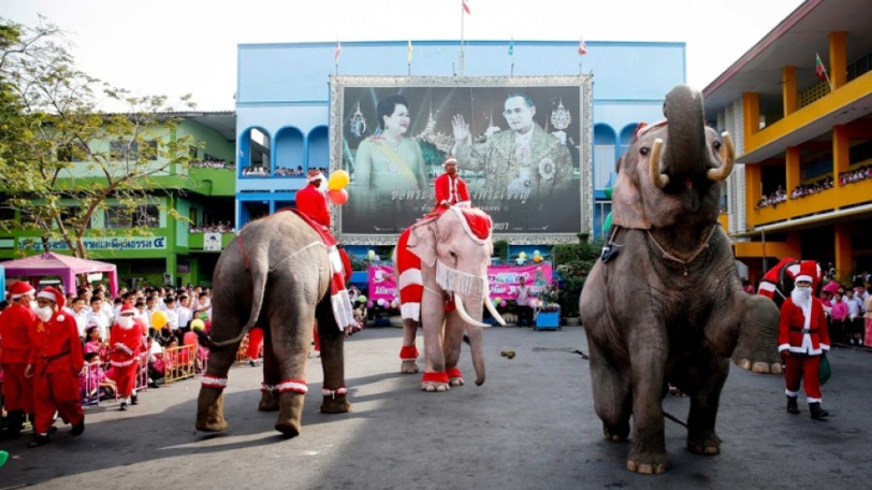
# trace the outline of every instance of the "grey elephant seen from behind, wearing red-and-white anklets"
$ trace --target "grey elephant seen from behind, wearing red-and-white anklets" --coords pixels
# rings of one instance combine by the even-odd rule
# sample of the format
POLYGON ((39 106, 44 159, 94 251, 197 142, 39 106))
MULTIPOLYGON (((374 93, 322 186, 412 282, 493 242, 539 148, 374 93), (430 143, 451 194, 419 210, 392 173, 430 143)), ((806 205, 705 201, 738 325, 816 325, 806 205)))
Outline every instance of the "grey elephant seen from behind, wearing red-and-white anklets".
POLYGON ((316 320, 324 379, 321 412, 351 411, 344 334, 332 312, 331 255, 319 233, 293 211, 248 223, 223 250, 213 275, 213 326, 208 337, 201 334, 210 351, 197 400, 197 430, 227 428, 223 387, 239 344, 254 325, 264 330, 259 408, 278 409, 277 431, 288 437, 300 434, 308 391, 306 359, 316 320))

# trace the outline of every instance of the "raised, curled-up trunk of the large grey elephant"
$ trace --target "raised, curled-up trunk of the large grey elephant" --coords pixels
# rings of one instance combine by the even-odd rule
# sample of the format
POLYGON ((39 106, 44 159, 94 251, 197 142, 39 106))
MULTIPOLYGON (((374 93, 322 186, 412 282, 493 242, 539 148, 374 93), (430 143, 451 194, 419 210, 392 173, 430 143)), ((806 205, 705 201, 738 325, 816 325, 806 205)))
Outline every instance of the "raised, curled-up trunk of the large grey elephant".
MULTIPOLYGON (((702 94, 687 85, 669 91, 663 103, 669 122, 669 142, 664 162, 674 175, 702 175, 711 167, 706 148, 702 94)), ((718 165, 716 165, 718 166, 718 165)))

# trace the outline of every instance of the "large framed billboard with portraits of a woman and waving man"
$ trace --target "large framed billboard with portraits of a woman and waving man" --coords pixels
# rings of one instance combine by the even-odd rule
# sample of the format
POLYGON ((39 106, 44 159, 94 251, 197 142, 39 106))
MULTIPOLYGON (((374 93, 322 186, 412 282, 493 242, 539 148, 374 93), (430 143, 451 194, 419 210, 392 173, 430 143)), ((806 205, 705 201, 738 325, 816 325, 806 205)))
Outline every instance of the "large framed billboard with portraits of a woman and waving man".
POLYGON ((333 76, 331 170, 352 177, 340 239, 395 240, 454 155, 496 239, 577 240, 592 226, 591 98, 590 75, 333 76))

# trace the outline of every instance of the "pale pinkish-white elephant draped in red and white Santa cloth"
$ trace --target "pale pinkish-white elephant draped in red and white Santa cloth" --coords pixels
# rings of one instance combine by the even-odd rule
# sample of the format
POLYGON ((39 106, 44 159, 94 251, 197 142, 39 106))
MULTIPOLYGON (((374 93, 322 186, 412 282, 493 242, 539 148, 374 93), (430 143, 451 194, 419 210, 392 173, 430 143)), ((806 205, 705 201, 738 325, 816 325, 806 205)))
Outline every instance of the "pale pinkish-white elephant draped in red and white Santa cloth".
POLYGON ((464 333, 470 343, 475 384, 485 380, 482 306, 505 325, 490 302, 487 270, 493 253, 492 223, 485 212, 459 203, 405 230, 392 260, 398 274, 403 339, 401 372, 418 372, 415 336, 424 335, 421 390, 444 392, 463 385, 457 362, 464 333))

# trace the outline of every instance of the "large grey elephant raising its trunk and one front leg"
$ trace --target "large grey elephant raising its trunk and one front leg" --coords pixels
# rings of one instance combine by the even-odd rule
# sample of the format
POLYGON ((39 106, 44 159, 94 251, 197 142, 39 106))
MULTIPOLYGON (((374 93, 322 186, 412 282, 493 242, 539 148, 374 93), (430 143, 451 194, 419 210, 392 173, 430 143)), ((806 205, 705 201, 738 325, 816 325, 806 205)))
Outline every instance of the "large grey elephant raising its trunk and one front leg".
POLYGON ((702 95, 679 85, 666 120, 640 124, 619 159, 613 227, 580 295, 594 407, 607 439, 629 436, 627 468, 669 467, 661 402, 668 384, 690 399, 687 446, 715 455, 728 358, 780 372, 778 309, 741 287, 719 200, 733 165, 728 133, 704 120, 702 95))

